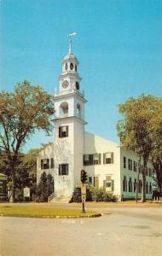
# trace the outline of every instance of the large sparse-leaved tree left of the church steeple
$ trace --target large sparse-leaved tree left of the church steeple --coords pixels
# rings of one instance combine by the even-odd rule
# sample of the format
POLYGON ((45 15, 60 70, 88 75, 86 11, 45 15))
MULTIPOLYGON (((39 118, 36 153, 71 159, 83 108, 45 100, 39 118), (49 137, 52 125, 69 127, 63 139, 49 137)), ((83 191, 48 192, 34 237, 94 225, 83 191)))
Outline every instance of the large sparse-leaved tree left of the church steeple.
POLYGON ((5 150, 12 176, 15 199, 15 173, 20 149, 37 130, 52 131, 50 117, 53 99, 38 85, 26 80, 16 84, 14 92, 0 93, 0 148, 5 150))

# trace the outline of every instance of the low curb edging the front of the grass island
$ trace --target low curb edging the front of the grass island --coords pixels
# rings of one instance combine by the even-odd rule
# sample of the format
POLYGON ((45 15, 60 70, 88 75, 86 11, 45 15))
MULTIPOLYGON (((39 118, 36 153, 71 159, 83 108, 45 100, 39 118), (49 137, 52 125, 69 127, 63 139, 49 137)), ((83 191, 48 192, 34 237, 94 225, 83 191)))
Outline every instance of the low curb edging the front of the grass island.
POLYGON ((27 214, 0 214, 0 217, 20 217, 20 218, 97 218, 101 217, 101 213, 95 213, 92 215, 27 215, 27 214))

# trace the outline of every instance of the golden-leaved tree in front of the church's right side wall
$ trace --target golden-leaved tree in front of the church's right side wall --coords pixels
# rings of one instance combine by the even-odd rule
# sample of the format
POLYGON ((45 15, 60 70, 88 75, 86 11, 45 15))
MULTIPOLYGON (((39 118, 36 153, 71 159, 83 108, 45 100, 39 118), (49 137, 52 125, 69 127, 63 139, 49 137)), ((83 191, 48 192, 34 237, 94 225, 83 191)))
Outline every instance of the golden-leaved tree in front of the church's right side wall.
POLYGON ((124 117, 117 125, 122 146, 135 151, 143 159, 142 201, 145 201, 148 159, 162 141, 162 98, 130 97, 119 104, 119 113, 124 117))

